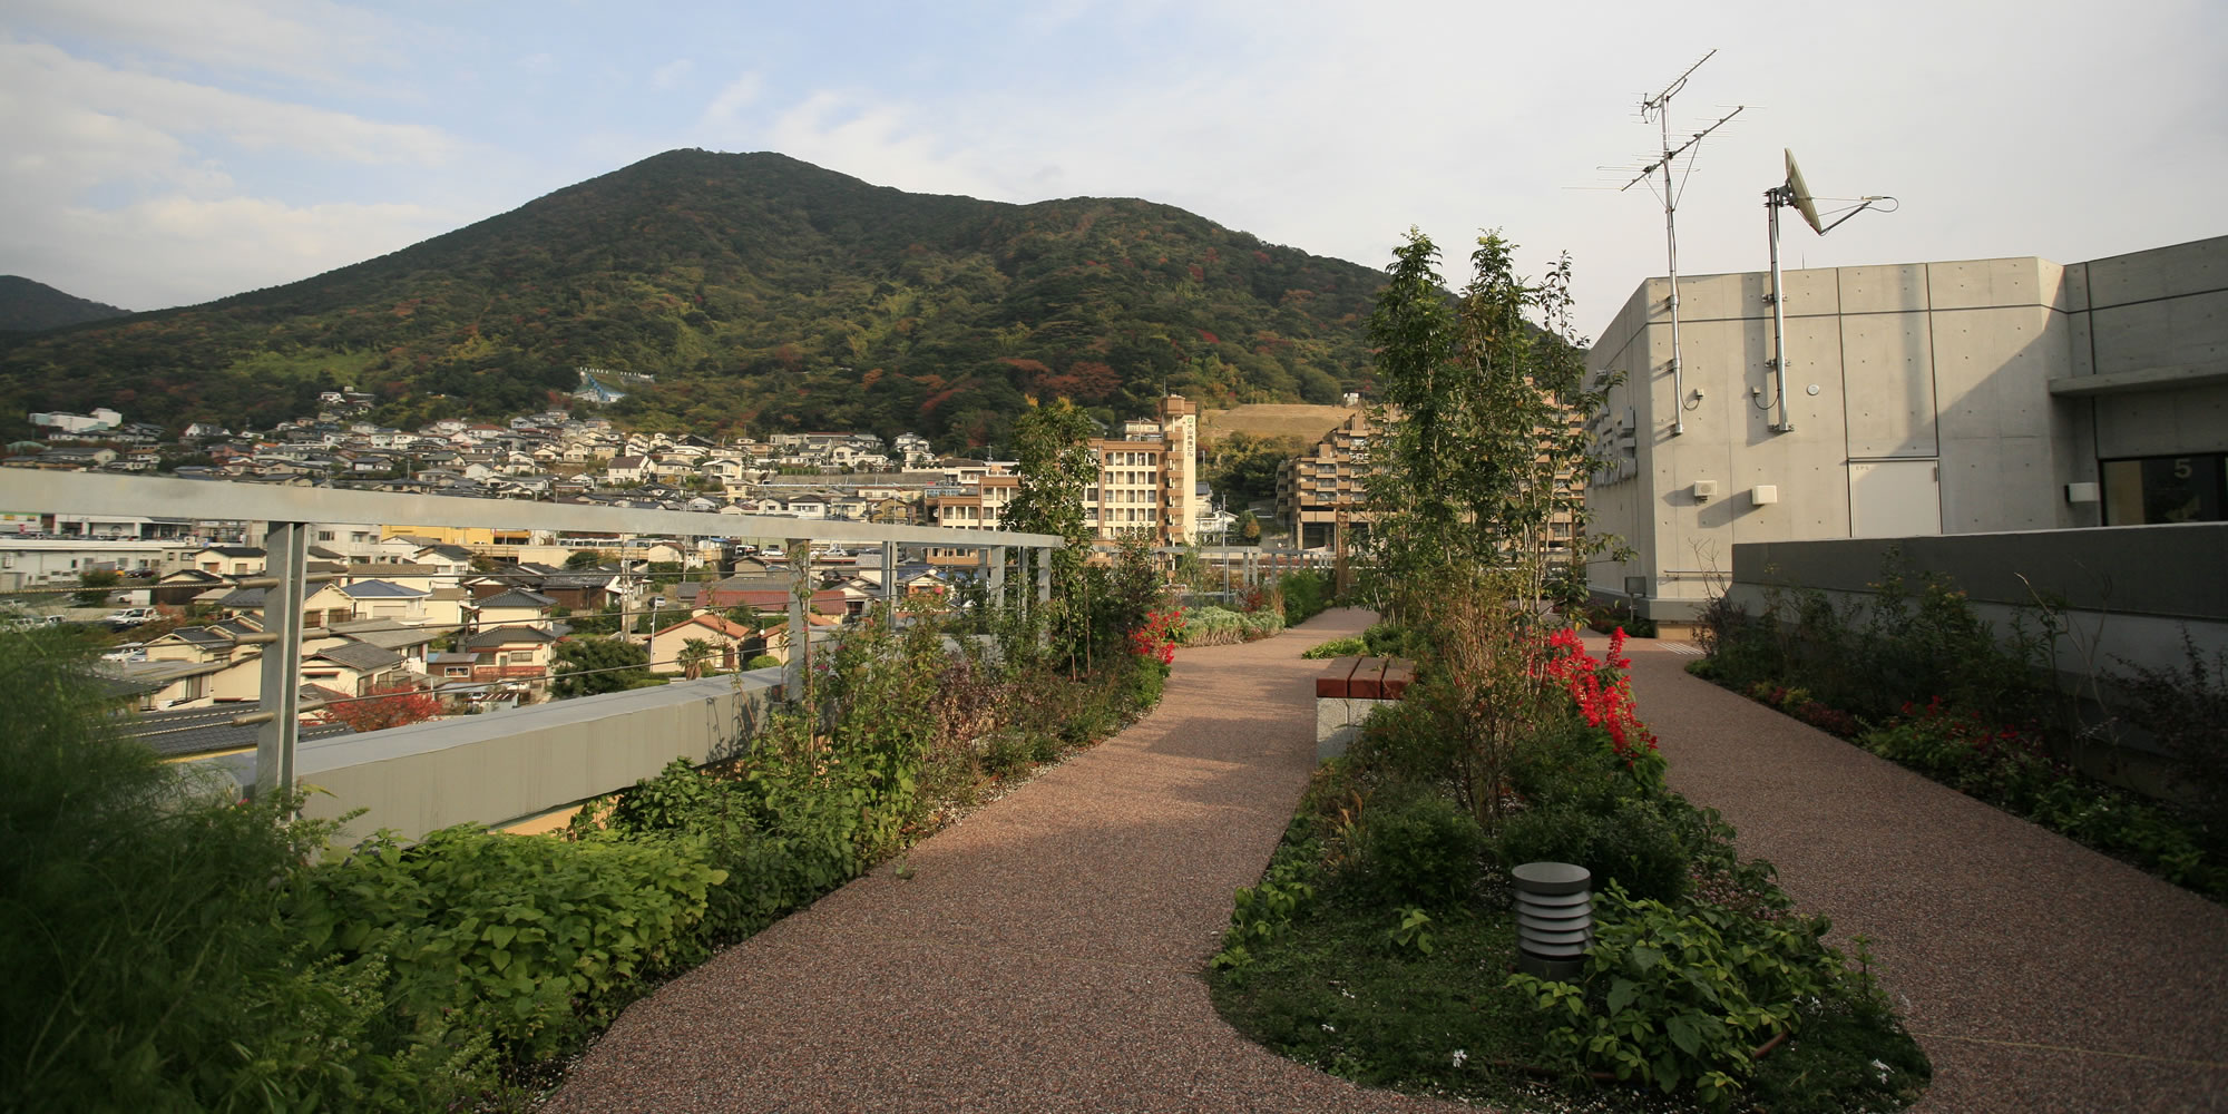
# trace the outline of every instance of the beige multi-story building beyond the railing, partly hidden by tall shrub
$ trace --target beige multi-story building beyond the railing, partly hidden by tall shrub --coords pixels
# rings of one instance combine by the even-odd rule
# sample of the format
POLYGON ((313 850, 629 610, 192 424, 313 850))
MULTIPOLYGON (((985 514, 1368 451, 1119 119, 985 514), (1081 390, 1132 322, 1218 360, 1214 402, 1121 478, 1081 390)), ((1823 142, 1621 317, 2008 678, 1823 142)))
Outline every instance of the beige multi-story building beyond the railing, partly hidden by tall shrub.
MULTIPOLYGON (((1161 546, 1196 541, 1199 405, 1181 394, 1161 399, 1152 419, 1125 421, 1116 437, 1089 441, 1098 475, 1083 490, 1083 524, 1116 541, 1143 530, 1161 546)), ((1020 490, 1012 466, 987 463, 965 483, 929 488, 929 517, 958 530, 996 530, 1020 490)))

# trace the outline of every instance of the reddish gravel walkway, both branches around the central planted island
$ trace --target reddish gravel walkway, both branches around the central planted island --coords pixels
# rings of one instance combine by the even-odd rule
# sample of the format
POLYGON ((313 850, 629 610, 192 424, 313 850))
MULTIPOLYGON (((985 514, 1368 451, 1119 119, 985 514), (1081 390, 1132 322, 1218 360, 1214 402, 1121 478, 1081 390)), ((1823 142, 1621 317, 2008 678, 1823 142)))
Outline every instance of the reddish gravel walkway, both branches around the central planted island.
MULTIPOLYGON (((1199 978, 1315 764, 1299 651, 1368 622, 1181 651, 1152 715, 633 1005, 546 1110, 1457 1110, 1272 1056, 1199 978)), ((2228 909, 1631 657, 1671 784, 1872 938, 1914 1110, 2228 1110, 2228 909)))

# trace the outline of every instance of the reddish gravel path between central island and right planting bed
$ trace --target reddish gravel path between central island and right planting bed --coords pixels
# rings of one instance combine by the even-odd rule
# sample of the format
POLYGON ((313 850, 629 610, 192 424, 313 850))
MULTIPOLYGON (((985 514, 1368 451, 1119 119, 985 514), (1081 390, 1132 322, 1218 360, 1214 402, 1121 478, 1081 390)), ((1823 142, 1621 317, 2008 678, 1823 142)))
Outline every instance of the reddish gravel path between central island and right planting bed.
POLYGON ((1874 940, 1934 1061, 1914 1110, 2228 1110, 2228 909, 1631 651, 1671 786, 1874 940))

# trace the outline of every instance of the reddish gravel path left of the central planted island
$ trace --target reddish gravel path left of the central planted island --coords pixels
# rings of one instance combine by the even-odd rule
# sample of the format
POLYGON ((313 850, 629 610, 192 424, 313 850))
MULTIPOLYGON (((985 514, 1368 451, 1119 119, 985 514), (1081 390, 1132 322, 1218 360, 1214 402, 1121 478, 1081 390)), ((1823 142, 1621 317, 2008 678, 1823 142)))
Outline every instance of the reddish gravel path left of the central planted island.
POLYGON ((1368 626, 1179 651, 1121 735, 635 1003, 550 1112, 1375 1112, 1232 1032, 1199 971, 1315 766, 1317 662, 1368 626))

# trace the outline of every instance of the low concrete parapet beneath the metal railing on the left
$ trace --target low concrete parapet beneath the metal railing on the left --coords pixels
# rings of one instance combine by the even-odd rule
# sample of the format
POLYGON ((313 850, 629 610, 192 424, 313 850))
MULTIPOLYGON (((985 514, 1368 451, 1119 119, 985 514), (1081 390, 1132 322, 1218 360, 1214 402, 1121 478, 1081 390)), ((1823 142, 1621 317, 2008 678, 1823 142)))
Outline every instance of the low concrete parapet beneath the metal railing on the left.
MULTIPOLYGON (((450 824, 501 827, 655 775, 666 762, 731 753, 780 695, 780 671, 706 677, 488 715, 410 724, 301 744, 303 784, 325 793, 305 813, 339 818, 350 838, 405 838, 450 824)), ((254 784, 254 755, 223 764, 254 784)))

